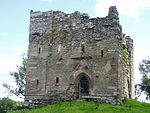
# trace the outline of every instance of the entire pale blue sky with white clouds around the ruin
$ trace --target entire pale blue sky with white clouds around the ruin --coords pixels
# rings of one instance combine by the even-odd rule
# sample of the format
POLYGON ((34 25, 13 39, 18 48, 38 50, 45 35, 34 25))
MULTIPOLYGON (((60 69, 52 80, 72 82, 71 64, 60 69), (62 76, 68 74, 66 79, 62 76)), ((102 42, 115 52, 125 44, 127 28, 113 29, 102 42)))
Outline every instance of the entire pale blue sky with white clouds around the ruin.
POLYGON ((138 64, 150 56, 150 0, 0 0, 0 97, 6 96, 2 83, 14 85, 9 72, 27 53, 30 10, 104 17, 112 5, 117 6, 123 32, 134 40, 135 83, 139 83, 138 64))

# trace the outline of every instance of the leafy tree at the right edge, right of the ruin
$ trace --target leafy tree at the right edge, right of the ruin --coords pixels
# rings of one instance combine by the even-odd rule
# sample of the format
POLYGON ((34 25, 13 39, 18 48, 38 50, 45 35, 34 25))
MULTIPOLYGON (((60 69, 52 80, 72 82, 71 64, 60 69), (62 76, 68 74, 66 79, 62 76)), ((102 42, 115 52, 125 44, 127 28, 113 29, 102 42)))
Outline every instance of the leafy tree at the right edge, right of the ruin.
POLYGON ((136 94, 139 97, 143 92, 146 94, 146 99, 150 99, 150 58, 143 60, 139 64, 139 70, 142 74, 141 84, 136 84, 136 94))

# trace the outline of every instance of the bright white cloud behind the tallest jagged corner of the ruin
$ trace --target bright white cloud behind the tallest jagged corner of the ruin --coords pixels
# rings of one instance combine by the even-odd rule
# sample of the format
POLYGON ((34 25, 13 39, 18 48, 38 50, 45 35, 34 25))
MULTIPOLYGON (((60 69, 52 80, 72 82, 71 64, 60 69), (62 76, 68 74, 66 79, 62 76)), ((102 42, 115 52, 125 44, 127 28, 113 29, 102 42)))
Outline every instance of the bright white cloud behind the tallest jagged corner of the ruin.
POLYGON ((117 6, 119 14, 128 15, 139 21, 140 11, 150 7, 150 0, 97 0, 96 16, 106 16, 110 6, 117 6))

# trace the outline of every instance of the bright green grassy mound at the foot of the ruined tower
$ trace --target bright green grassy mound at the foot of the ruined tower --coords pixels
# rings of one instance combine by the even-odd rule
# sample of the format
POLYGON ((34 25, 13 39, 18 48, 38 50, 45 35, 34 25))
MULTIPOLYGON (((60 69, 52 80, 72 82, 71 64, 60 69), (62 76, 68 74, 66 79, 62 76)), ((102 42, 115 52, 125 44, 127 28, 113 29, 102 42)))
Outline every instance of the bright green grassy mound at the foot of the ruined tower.
POLYGON ((126 100, 121 105, 73 101, 9 113, 150 113, 150 104, 135 100, 126 100))

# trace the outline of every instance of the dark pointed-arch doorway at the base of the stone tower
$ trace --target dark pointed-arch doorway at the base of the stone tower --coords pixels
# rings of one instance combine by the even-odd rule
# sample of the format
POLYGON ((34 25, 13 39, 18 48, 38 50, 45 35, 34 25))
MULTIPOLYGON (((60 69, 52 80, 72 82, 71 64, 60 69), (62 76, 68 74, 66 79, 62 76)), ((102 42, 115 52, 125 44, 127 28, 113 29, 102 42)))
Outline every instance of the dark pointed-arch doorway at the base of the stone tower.
POLYGON ((82 96, 88 96, 90 78, 85 73, 81 73, 77 79, 78 98, 82 98, 82 96))

